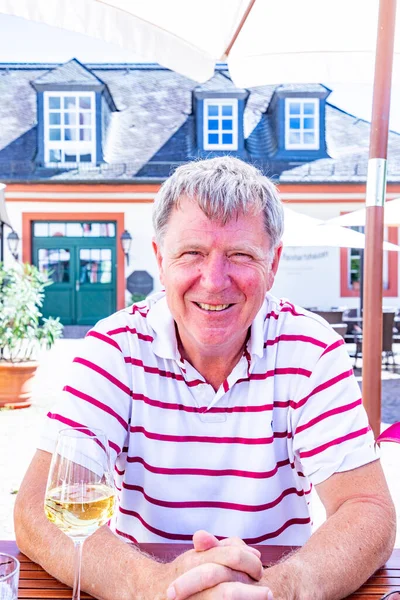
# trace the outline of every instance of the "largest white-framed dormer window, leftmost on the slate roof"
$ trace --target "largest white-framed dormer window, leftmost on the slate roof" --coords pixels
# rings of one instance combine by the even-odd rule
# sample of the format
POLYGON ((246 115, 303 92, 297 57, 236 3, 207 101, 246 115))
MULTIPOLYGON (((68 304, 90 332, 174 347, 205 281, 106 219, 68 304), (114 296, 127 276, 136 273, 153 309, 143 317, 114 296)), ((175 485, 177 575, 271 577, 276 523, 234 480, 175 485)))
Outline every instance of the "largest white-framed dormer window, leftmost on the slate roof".
POLYGON ((46 164, 95 163, 94 92, 44 92, 46 164))

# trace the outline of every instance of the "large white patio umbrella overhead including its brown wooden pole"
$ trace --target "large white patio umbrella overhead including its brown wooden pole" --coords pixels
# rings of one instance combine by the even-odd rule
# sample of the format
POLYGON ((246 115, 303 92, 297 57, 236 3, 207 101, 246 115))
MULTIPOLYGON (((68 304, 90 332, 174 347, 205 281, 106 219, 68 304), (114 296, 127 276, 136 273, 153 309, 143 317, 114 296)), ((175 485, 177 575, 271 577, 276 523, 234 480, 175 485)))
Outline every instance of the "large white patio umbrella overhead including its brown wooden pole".
POLYGON ((380 0, 379 14, 376 0, 0 0, 0 13, 112 42, 197 81, 209 79, 215 63, 223 60, 239 87, 374 82, 366 195, 363 397, 377 436, 382 343, 382 320, 377 315, 382 307, 393 61, 394 80, 400 80, 396 0, 380 0))

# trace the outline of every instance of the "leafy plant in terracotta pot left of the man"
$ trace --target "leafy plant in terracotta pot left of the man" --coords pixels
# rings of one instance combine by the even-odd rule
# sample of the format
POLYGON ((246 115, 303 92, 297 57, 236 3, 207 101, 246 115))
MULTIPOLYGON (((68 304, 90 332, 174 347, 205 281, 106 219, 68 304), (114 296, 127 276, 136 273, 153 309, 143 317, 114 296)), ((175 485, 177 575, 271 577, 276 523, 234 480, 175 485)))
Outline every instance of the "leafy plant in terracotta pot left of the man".
POLYGON ((0 408, 30 406, 38 350, 61 336, 60 320, 40 312, 51 283, 28 263, 0 263, 0 408))

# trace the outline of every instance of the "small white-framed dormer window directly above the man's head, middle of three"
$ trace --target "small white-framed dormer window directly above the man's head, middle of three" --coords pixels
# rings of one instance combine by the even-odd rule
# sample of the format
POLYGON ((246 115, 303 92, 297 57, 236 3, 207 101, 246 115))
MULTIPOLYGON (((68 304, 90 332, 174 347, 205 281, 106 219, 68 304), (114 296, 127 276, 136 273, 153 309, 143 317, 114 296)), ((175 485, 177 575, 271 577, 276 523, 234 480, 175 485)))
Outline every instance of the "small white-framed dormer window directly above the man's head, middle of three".
POLYGON ((203 110, 204 150, 237 150, 238 100, 206 98, 203 110))

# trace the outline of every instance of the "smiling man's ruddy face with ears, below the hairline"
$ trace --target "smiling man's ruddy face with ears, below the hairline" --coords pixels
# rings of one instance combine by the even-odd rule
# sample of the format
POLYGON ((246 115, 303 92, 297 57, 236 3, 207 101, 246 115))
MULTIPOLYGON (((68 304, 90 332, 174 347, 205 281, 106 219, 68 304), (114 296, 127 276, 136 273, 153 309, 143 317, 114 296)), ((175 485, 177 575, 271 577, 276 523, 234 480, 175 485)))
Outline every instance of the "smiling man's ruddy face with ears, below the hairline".
POLYGON ((162 246, 153 246, 188 357, 234 356, 278 268, 281 246, 271 264, 263 216, 240 215, 222 225, 183 198, 162 246))

